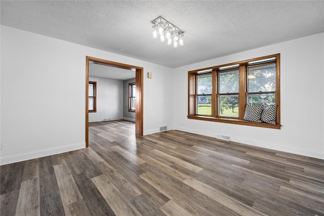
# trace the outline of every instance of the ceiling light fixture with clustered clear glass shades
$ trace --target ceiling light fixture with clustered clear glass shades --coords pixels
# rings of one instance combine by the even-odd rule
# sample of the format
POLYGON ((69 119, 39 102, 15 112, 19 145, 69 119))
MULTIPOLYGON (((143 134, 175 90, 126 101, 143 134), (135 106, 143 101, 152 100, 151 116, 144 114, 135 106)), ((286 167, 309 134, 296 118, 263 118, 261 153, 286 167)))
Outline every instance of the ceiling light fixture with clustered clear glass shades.
POLYGON ((184 31, 171 22, 159 16, 152 20, 151 23, 153 24, 153 38, 158 37, 161 42, 167 41, 167 45, 173 45, 174 48, 184 45, 184 31))

